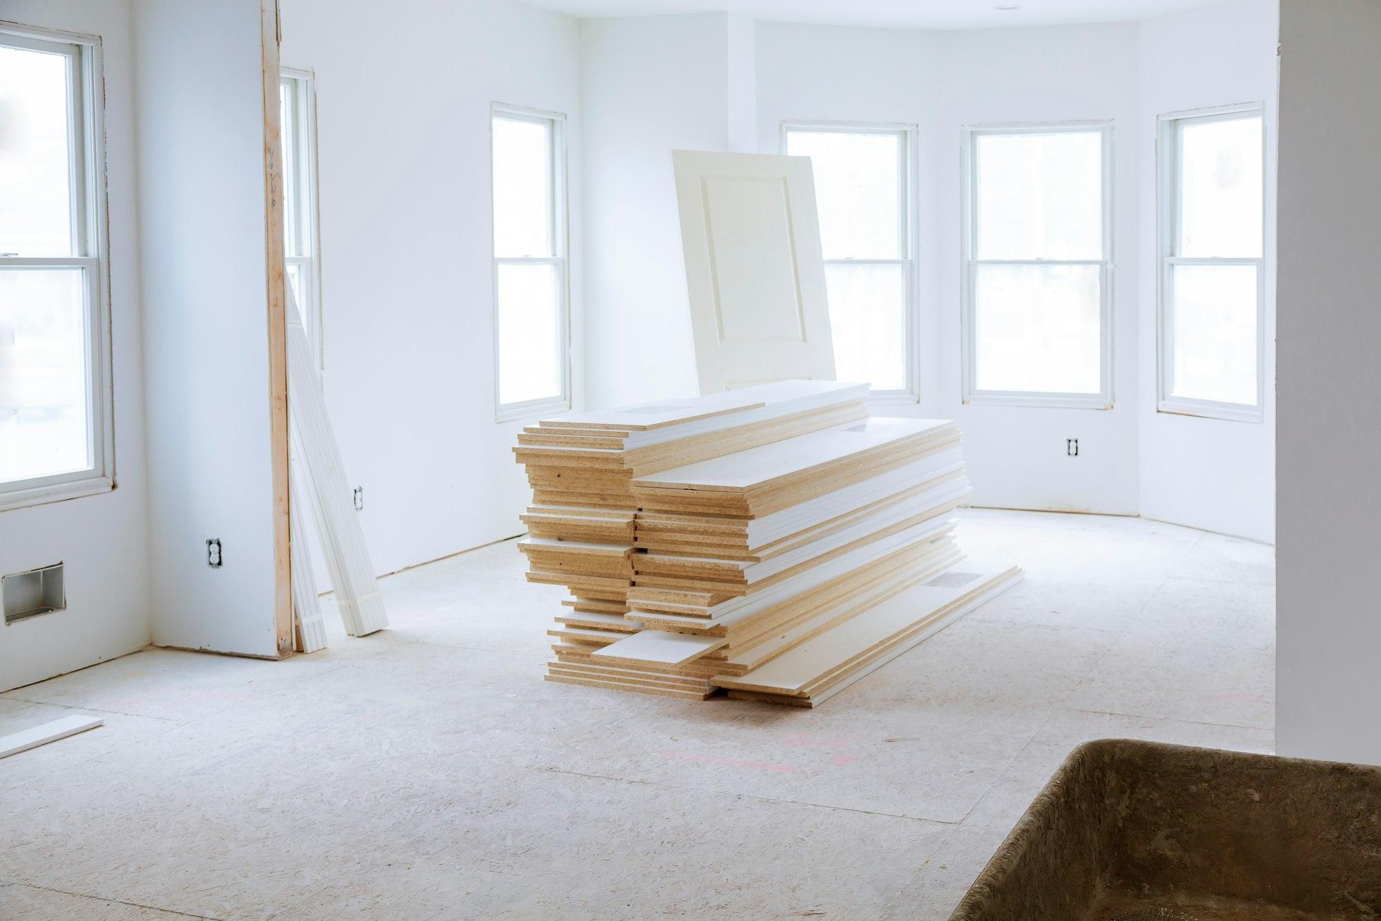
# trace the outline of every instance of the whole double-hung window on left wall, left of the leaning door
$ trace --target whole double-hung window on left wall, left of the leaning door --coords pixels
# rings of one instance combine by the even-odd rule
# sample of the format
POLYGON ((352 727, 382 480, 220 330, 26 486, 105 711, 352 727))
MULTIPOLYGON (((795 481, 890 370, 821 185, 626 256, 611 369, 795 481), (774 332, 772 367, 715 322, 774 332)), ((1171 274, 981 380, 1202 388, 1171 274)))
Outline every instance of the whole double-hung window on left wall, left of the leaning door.
POLYGON ((570 407, 562 116, 494 105, 497 418, 570 407))

